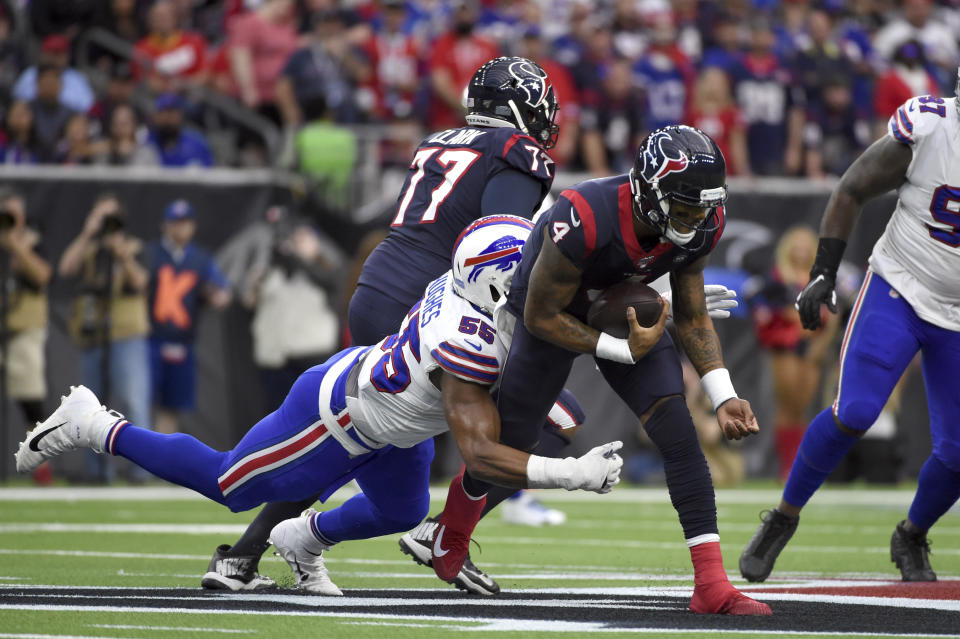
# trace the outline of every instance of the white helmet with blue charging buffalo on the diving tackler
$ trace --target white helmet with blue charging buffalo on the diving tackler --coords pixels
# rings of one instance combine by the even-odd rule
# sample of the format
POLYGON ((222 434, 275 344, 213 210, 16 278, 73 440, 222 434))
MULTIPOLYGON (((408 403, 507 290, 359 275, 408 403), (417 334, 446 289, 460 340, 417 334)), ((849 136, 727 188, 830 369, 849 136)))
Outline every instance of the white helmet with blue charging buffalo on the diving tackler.
POLYGON ((533 222, 515 215, 488 215, 467 228, 453 245, 453 290, 488 315, 510 290, 533 222))

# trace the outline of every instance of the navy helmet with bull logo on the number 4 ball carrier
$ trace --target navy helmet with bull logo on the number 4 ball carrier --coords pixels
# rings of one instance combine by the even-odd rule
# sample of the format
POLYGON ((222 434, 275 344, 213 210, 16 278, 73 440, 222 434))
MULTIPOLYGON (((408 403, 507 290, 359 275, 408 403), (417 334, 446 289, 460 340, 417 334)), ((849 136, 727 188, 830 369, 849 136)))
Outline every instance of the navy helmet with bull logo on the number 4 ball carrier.
POLYGON ((720 147, 710 136, 690 126, 667 126, 651 132, 640 143, 633 168, 630 169, 630 191, 633 194, 633 214, 642 222, 660 231, 677 246, 686 246, 697 231, 712 231, 705 227, 712 209, 727 199, 727 165, 720 147), (711 209, 704 221, 687 231, 678 231, 671 221, 672 202, 711 209))

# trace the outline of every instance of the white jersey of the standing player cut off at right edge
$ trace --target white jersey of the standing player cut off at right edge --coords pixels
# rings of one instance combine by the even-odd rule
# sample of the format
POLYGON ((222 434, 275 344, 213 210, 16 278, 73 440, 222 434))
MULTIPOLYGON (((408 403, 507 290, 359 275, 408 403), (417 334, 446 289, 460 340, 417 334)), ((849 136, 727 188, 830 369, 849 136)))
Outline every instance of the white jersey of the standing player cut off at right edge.
POLYGON ((960 116, 953 98, 911 98, 887 135, 913 160, 897 207, 870 256, 870 268, 920 318, 960 331, 960 116))

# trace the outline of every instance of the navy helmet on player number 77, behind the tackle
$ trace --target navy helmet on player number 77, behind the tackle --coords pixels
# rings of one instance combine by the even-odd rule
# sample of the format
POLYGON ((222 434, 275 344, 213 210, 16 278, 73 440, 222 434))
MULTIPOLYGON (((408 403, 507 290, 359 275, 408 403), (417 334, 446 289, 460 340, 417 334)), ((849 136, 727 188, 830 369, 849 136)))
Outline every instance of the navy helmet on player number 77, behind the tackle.
POLYGON ((494 58, 467 85, 467 124, 472 126, 515 127, 550 149, 560 133, 556 117, 553 86, 533 60, 494 58))

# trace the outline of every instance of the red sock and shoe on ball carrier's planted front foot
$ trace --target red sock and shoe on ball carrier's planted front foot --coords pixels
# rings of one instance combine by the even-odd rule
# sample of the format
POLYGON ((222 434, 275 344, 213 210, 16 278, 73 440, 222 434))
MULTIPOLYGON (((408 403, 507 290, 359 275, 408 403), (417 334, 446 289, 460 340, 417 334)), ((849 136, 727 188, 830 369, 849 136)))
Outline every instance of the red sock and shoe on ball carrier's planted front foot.
POLYGON ((700 614, 772 615, 770 606, 733 587, 723 569, 720 542, 710 541, 690 549, 693 561, 693 597, 690 610, 700 614))

